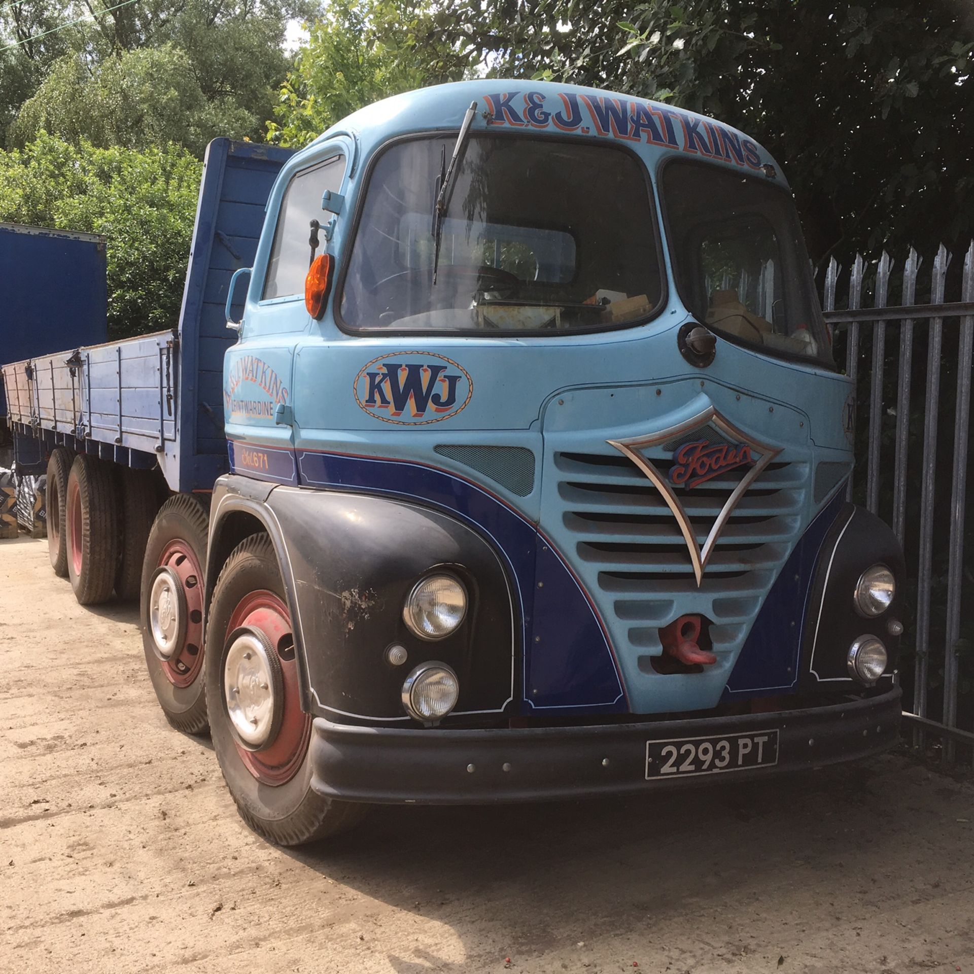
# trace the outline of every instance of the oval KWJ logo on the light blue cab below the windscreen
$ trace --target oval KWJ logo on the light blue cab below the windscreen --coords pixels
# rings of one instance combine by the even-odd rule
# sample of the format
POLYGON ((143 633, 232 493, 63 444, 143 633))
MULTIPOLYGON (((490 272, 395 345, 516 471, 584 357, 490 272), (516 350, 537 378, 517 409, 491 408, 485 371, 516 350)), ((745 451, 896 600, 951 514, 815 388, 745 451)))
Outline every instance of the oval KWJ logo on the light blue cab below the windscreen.
POLYGON ((362 367, 355 395, 359 408, 377 420, 424 426, 463 412, 473 395, 473 380, 452 358, 392 352, 362 367))

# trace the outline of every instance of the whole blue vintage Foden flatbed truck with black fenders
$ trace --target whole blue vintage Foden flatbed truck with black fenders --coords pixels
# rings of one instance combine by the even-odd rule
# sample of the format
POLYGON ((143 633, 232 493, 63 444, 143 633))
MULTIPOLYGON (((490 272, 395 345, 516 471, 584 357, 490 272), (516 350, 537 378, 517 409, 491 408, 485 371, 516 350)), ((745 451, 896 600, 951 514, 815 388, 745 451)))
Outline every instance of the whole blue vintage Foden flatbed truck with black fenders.
POLYGON ((788 185, 720 122, 481 80, 217 140, 178 330, 4 381, 56 572, 140 599, 274 842, 896 740, 902 555, 845 500, 788 185))

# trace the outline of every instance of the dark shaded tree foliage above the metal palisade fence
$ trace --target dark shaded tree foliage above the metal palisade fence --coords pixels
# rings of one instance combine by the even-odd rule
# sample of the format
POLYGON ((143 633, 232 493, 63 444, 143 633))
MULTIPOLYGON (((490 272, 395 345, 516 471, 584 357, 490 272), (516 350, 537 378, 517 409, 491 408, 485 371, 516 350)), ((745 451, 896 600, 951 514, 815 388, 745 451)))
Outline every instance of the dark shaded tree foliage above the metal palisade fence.
POLYGON ((962 0, 479 0, 499 75, 671 101, 764 142, 809 249, 974 234, 974 8, 962 0))

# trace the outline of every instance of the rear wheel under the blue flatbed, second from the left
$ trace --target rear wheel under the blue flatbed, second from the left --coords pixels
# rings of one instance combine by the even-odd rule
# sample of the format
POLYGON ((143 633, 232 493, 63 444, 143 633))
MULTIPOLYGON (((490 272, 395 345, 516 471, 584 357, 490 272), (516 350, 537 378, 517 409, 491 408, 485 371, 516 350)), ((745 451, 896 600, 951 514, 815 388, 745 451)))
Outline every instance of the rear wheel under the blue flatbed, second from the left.
POLYGON ((118 507, 109 464, 83 453, 74 458, 64 524, 67 577, 75 598, 83 606, 107 601, 118 564, 118 507))

